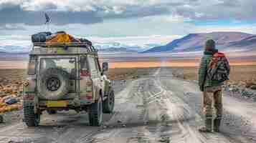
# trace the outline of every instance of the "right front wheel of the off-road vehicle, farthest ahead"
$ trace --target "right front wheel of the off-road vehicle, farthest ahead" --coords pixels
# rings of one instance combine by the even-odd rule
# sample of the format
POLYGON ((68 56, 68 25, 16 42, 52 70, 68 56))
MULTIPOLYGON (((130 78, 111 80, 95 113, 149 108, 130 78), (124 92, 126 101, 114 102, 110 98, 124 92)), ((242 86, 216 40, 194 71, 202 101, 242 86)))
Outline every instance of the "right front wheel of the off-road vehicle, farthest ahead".
POLYGON ((108 98, 103 102, 103 113, 112 113, 115 106, 115 94, 111 91, 108 98))

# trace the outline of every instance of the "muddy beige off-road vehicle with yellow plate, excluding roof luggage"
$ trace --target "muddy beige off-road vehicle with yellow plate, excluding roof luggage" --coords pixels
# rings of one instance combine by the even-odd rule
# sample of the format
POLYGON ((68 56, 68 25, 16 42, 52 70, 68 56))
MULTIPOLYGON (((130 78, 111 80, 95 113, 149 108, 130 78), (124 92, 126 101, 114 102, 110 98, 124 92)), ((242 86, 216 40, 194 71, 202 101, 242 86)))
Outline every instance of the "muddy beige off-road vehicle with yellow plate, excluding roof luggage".
POLYGON ((104 75, 98 51, 87 42, 34 43, 24 83, 24 122, 36 127, 47 111, 73 109, 88 113, 91 126, 100 126, 103 113, 113 112, 115 97, 104 75))

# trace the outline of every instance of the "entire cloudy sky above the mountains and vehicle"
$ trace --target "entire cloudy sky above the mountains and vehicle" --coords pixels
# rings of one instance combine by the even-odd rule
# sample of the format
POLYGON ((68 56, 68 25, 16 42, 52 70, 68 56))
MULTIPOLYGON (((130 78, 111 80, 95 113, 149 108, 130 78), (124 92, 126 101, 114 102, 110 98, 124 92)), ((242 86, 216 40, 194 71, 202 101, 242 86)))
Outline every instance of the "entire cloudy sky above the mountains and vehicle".
POLYGON ((29 44, 31 34, 47 30, 45 12, 51 31, 102 43, 166 44, 211 31, 256 34, 255 7, 255 0, 0 0, 0 46, 29 44))

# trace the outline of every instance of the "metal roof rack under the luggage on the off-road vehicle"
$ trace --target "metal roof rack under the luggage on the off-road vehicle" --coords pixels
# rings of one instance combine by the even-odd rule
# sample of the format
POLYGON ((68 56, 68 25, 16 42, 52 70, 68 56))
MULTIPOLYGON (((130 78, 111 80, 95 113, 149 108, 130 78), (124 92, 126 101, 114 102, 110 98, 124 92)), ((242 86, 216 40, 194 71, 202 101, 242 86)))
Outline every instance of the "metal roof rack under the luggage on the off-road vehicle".
POLYGON ((95 47, 93 45, 88 44, 87 42, 65 42, 65 43, 61 43, 61 42, 34 42, 32 50, 34 50, 34 46, 40 46, 42 48, 52 48, 52 47, 86 48, 87 51, 91 51, 91 52, 98 51, 97 49, 95 49, 95 47))

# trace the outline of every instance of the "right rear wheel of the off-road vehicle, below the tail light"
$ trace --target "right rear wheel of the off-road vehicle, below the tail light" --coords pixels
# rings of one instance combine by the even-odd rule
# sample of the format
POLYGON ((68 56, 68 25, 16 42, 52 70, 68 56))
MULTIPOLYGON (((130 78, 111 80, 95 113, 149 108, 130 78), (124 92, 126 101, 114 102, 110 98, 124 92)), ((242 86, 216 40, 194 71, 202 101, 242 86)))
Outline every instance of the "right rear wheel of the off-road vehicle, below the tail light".
POLYGON ((100 126, 103 120, 103 102, 100 97, 97 102, 90 105, 89 110, 90 126, 100 126))

